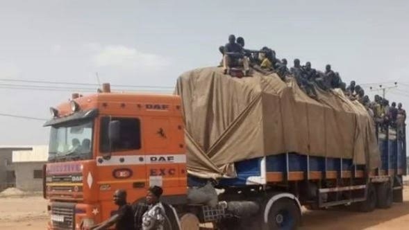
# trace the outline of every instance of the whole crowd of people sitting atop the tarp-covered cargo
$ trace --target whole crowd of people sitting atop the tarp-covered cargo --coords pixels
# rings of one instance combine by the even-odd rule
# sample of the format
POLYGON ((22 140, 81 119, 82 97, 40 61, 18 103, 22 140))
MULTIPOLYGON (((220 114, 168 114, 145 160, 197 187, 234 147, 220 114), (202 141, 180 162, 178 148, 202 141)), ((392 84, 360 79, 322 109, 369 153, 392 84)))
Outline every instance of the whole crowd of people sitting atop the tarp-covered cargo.
POLYGON ((223 55, 222 67, 224 74, 231 74, 232 69, 242 67, 243 76, 249 76, 250 67, 262 73, 277 73, 281 80, 294 78, 299 88, 311 98, 317 99, 317 90, 329 91, 331 89, 341 89, 345 96, 351 100, 358 100, 365 106, 368 113, 379 127, 398 128, 403 134, 403 127, 406 120, 406 111, 402 108, 402 103, 392 103, 389 100, 376 95, 374 101, 365 95, 365 90, 351 81, 349 86, 342 81, 340 73, 333 71, 331 64, 327 64, 325 71, 313 69, 311 62, 301 65, 299 59, 294 60, 294 65, 290 69, 287 67, 285 58, 278 59, 276 52, 267 46, 260 50, 249 50, 244 48, 244 38, 228 36, 228 43, 219 47, 223 55))

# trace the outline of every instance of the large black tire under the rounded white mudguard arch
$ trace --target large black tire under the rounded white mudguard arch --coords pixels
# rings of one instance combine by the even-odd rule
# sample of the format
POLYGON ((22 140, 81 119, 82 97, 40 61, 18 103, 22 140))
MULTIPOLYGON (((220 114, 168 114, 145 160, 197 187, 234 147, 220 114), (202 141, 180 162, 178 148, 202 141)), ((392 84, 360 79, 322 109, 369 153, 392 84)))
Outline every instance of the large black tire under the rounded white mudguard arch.
POLYGON ((297 229, 301 222, 299 207, 293 200, 282 198, 274 202, 269 210, 266 230, 297 229))

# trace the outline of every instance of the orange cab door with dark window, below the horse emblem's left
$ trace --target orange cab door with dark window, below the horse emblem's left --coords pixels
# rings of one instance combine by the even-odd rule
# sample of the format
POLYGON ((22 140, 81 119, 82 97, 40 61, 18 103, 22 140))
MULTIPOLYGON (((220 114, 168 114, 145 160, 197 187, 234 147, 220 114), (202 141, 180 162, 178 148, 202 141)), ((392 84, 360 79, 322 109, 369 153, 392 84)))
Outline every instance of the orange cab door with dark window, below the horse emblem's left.
MULTIPOLYGON (((101 116, 99 152, 97 155, 97 185, 104 215, 115 210, 112 193, 125 189, 128 202, 145 197, 147 191, 146 161, 142 146, 142 119, 135 116, 101 116), (108 125, 119 121, 119 140, 109 143, 108 125), (110 152, 110 157, 103 157, 110 152)), ((105 216, 103 218, 109 218, 105 216)))

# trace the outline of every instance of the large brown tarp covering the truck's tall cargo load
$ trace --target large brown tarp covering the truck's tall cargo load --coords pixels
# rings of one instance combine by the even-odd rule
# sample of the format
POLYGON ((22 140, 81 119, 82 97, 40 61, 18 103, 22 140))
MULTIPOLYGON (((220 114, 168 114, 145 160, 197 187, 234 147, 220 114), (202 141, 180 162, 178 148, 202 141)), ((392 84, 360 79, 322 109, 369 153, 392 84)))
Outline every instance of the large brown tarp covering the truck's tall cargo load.
POLYGON ((231 78, 209 67, 179 77, 176 94, 192 175, 235 177, 234 162, 284 152, 353 159, 369 168, 380 163, 372 118, 339 89, 317 89, 314 100, 275 73, 231 78))

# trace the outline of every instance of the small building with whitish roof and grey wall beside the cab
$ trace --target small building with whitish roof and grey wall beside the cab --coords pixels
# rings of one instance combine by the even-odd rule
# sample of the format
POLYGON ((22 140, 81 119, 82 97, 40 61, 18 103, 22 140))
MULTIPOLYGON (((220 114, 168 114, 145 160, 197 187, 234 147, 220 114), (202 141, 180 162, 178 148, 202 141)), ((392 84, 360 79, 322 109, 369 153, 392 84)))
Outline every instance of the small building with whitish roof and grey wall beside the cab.
POLYGON ((42 191, 42 167, 47 163, 47 145, 33 145, 31 150, 12 151, 16 188, 22 191, 42 191))

